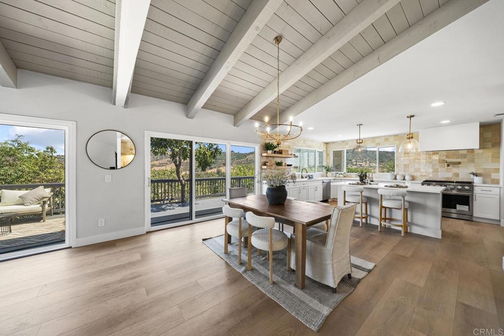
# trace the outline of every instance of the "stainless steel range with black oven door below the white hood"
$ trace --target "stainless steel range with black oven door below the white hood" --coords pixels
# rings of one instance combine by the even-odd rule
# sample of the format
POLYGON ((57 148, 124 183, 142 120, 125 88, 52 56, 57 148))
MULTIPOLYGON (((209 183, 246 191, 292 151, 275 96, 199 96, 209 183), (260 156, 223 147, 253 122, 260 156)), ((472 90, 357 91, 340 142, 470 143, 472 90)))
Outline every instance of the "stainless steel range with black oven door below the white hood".
POLYGON ((442 193, 444 217, 473 219, 473 183, 471 181, 425 180, 422 186, 446 187, 442 193))

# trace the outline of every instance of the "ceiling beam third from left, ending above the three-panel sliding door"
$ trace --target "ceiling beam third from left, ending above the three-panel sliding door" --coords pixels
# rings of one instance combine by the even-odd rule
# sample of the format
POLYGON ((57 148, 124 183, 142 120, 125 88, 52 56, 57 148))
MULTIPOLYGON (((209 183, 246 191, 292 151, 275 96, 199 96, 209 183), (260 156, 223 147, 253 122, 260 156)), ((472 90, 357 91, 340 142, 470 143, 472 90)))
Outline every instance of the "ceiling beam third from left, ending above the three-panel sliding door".
POLYGON ((282 2, 283 0, 255 0, 250 4, 193 97, 187 103, 187 118, 192 119, 196 116, 282 2))

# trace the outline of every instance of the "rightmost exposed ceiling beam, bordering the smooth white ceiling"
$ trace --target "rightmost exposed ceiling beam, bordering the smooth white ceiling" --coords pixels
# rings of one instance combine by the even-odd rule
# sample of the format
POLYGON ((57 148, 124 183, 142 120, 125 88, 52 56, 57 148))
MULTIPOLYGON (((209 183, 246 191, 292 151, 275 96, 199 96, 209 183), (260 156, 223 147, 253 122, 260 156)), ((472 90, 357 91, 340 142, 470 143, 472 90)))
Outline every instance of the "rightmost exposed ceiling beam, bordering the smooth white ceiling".
MULTIPOLYGON (((394 58, 487 1, 488 0, 450 0, 448 3, 429 14, 426 18, 420 20, 400 35, 341 72, 317 90, 311 92, 299 102, 290 106, 280 114, 280 122, 287 121, 290 116, 297 116, 338 90, 346 87, 355 79, 394 58)), ((414 64, 412 66, 414 66, 414 64)))

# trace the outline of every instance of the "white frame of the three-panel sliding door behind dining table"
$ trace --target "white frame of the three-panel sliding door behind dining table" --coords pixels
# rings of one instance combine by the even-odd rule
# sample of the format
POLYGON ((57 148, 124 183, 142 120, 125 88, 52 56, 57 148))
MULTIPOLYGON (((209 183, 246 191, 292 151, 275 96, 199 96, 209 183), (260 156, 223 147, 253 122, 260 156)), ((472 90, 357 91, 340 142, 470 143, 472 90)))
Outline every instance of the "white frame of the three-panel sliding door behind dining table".
MULTIPOLYGON (((240 141, 232 141, 232 140, 226 140, 226 139, 215 139, 215 138, 206 138, 206 137, 199 137, 199 136, 191 136, 191 135, 183 135, 183 134, 174 134, 174 133, 163 133, 163 132, 154 132, 154 131, 145 131, 145 141, 144 141, 144 152, 145 152, 145 188, 144 188, 144 200, 145 200, 145 206, 144 206, 144 212, 145 212, 145 230, 146 231, 154 231, 154 230, 160 230, 160 229, 165 229, 168 227, 174 227, 174 226, 180 226, 180 225, 185 225, 185 224, 191 224, 191 223, 196 223, 196 222, 201 222, 201 221, 206 221, 209 219, 214 219, 214 218, 219 218, 222 217, 223 215, 215 215, 215 216, 208 216, 205 218, 199 218, 196 219, 196 207, 194 206, 195 201, 196 201, 196 194, 194 191, 196 190, 196 180, 194 179, 195 176, 195 164, 194 164, 194 150, 192 151, 191 159, 193 161, 192 164, 192 172, 191 172, 191 218, 192 220, 187 220, 183 222, 177 222, 177 223, 171 223, 171 224, 166 224, 166 225, 159 225, 156 227, 151 227, 151 198, 150 198, 150 186, 149 186, 149 179, 151 176, 151 137, 154 138, 167 138, 167 139, 177 139, 177 140, 185 140, 185 141, 193 141, 193 144, 195 142, 205 142, 205 143, 217 143, 221 145, 226 146, 226 197, 227 195, 227 188, 228 186, 231 185, 231 168, 230 168, 230 157, 231 157, 231 146, 236 145, 236 146, 245 146, 245 147, 254 147, 255 148, 255 172, 259 172, 259 164, 260 164, 260 153, 259 153, 259 144, 258 143, 251 143, 251 142, 240 142, 240 141)), ((259 188, 254 188, 255 194, 258 194, 258 189, 259 188)))

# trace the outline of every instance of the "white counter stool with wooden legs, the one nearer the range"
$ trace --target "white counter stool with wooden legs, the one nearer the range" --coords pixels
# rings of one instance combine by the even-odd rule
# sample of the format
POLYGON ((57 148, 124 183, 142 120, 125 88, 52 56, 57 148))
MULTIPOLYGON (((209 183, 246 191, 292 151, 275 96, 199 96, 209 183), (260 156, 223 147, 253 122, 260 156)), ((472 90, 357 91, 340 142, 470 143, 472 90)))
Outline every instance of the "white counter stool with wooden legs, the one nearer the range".
POLYGON ((408 232, 409 202, 404 200, 408 193, 406 190, 378 189, 378 194, 380 194, 380 222, 378 225, 378 231, 382 231, 382 225, 399 226, 401 227, 401 235, 404 237, 404 234, 408 232), (384 196, 401 197, 401 199, 384 199, 384 196), (387 217, 387 209, 401 210, 402 219, 392 218, 391 212, 389 212, 389 216, 391 217, 387 217), (397 222, 400 222, 401 224, 397 224, 397 222))

